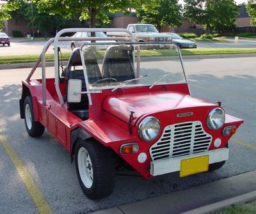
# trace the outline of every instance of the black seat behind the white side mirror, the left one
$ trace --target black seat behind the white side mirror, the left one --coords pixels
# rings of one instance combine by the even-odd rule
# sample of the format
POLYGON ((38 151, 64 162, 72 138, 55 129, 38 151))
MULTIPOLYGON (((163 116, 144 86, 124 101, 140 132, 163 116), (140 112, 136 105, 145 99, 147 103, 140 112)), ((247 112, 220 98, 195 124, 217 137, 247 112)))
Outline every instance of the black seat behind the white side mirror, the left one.
MULTIPOLYGON (((91 50, 84 51, 84 61, 86 65, 86 72, 88 75, 88 81, 90 84, 101 79, 101 73, 99 69, 99 65, 97 63, 97 59, 91 50)), ((82 80, 82 91, 87 91, 86 82, 84 79, 83 69, 76 69, 77 66, 82 66, 81 55, 79 49, 76 49, 72 52, 70 59, 67 65, 66 79, 67 79, 67 88, 66 93, 68 91, 68 80, 70 79, 80 79, 82 80), (72 69, 74 68, 74 69, 72 69)), ((77 117, 85 120, 89 117, 89 100, 88 95, 81 95, 81 102, 73 103, 67 102, 68 109, 76 114, 77 117)))

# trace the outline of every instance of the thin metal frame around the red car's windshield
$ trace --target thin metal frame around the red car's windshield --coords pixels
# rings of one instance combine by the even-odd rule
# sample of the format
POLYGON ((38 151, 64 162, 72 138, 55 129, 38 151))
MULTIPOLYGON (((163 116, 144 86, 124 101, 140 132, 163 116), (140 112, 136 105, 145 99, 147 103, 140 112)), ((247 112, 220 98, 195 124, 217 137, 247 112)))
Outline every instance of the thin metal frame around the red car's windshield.
MULTIPOLYGON (((115 43, 115 45, 141 45, 141 44, 145 44, 144 42, 117 42, 115 43)), ((164 85, 175 85, 175 84, 184 84, 184 83, 187 83, 188 84, 188 79, 186 77, 186 72, 185 72, 185 69, 184 69, 184 63, 183 63, 183 59, 182 59, 182 55, 181 55, 181 52, 180 52, 180 49, 179 49, 179 46, 175 43, 172 43, 172 42, 147 42, 147 45, 148 44, 152 44, 152 45, 172 45, 174 47, 176 47, 176 49, 178 50, 178 56, 179 56, 179 61, 180 61, 180 65, 181 65, 181 68, 182 68, 182 73, 184 75, 184 82, 174 82, 174 83, 162 83, 162 84, 154 84, 154 86, 164 86, 164 85)), ((81 55, 81 61, 82 61, 82 64, 83 64, 83 71, 84 71, 84 79, 86 81, 86 85, 87 85, 87 91, 102 91, 102 90, 106 90, 106 89, 114 89, 116 88, 116 86, 102 86, 102 87, 99 87, 99 88, 90 88, 89 85, 89 80, 88 80, 88 75, 87 75, 87 70, 86 70, 86 66, 85 66, 85 61, 84 61, 84 54, 83 54, 83 47, 86 47, 86 46, 98 46, 98 45, 113 45, 113 43, 84 43, 83 45, 81 45, 79 51, 80 51, 80 55, 81 55)), ((139 63, 141 63, 141 59, 140 59, 140 51, 139 51, 139 56, 137 56, 137 61, 139 61, 139 63)), ((137 72, 137 71, 135 71, 137 72)), ((136 78, 140 78, 140 77, 136 77, 136 78)), ((153 82, 152 82, 153 83, 153 82)), ((122 83, 121 83, 122 84, 122 83)), ((150 87, 152 86, 152 84, 132 84, 132 85, 126 85, 124 84, 123 86, 120 86, 119 88, 122 89, 122 88, 138 88, 138 87, 150 87)))

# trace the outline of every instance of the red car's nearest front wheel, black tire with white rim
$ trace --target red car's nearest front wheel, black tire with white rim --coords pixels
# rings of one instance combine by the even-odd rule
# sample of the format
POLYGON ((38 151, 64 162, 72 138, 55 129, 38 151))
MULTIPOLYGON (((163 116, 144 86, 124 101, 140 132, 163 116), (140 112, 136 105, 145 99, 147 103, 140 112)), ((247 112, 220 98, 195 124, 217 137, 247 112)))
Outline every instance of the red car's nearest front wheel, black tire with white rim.
POLYGON ((79 139, 75 149, 75 163, 79 184, 87 197, 96 200, 111 195, 115 185, 114 162, 107 148, 97 141, 79 139))

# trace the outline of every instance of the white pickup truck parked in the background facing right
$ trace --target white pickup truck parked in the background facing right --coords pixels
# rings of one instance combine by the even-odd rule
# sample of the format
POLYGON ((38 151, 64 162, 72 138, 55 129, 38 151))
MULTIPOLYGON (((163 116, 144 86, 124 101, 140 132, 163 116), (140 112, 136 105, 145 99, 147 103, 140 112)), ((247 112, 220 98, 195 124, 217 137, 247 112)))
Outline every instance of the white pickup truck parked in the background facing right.
MULTIPOLYGON (((152 24, 129 24, 127 30, 134 34, 136 42, 168 42, 172 36, 159 33, 152 24)), ((127 33, 107 32, 107 36, 129 36, 127 33)))

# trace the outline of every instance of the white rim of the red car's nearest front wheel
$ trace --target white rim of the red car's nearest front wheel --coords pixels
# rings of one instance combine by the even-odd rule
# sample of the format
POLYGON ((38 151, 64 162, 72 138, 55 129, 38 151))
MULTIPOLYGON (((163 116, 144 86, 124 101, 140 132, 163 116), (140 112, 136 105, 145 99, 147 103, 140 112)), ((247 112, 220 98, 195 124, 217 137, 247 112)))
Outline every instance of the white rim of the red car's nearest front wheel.
POLYGON ((77 155, 77 164, 79 169, 80 178, 86 188, 91 188, 93 183, 93 167, 92 160, 88 151, 81 147, 77 155))

